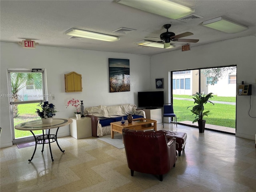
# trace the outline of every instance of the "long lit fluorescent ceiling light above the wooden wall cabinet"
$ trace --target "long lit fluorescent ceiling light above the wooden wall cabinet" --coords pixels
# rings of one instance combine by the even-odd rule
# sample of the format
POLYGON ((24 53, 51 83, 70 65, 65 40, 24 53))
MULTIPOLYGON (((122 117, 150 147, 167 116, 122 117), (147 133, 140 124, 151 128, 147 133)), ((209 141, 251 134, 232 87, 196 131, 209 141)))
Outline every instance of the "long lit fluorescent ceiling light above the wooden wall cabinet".
POLYGON ((95 33, 95 32, 90 32, 90 31, 85 31, 80 29, 74 29, 74 28, 67 30, 65 33, 70 36, 84 37, 84 38, 96 39, 96 40, 102 40, 102 41, 118 41, 120 39, 119 37, 116 37, 116 36, 95 33))

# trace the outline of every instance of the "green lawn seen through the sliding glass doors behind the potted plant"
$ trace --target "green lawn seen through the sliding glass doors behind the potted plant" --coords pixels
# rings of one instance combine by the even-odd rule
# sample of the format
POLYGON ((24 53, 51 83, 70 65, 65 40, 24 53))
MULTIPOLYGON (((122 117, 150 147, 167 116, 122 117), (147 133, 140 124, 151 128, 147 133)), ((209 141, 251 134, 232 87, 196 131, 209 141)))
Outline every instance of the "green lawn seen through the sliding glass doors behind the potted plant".
MULTIPOLYGON (((184 95, 174 95, 174 98, 192 98, 190 96, 184 95)), ((211 100, 214 103, 214 100, 218 101, 225 101, 225 102, 236 102, 235 97, 218 97, 214 96, 211 100)), ((173 99, 173 107, 174 113, 177 116, 177 121, 193 121, 194 115, 190 112, 188 106, 193 106, 194 101, 190 100, 178 100, 173 99)), ((208 113, 208 117, 205 116, 204 119, 206 120, 207 124, 224 126, 235 128, 236 127, 236 106, 235 105, 228 105, 228 104, 210 104, 207 103, 205 105, 205 110, 210 110, 208 113)))

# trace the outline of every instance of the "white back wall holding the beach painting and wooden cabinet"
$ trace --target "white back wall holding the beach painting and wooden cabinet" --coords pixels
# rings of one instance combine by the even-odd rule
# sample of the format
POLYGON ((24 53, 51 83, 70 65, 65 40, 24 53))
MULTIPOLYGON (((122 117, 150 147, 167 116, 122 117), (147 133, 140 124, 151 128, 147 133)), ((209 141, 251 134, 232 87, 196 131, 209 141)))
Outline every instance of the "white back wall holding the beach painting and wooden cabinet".
MULTIPOLYGON (((8 94, 7 68, 45 68, 49 98, 56 106, 56 117, 74 116, 74 109, 66 108, 72 98, 84 100, 85 107, 115 104, 138 104, 137 92, 150 89, 150 56, 98 52, 69 48, 37 46, 24 49, 18 43, 1 42, 0 94, 8 94), (108 58, 130 60, 130 92, 109 92, 108 58), (82 74, 82 92, 66 93, 64 74, 75 71, 82 74)), ((12 145, 9 100, 0 97, 0 147, 12 145)), ((58 136, 70 135, 69 126, 62 127, 58 136)))

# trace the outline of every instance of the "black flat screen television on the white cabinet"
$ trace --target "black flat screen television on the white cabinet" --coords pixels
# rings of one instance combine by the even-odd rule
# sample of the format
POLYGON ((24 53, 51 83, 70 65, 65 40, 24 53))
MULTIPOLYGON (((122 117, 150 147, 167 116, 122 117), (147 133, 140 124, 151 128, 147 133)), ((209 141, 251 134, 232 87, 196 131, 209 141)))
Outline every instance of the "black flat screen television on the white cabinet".
POLYGON ((155 109, 163 107, 163 91, 144 91, 138 92, 138 107, 146 109, 155 109))

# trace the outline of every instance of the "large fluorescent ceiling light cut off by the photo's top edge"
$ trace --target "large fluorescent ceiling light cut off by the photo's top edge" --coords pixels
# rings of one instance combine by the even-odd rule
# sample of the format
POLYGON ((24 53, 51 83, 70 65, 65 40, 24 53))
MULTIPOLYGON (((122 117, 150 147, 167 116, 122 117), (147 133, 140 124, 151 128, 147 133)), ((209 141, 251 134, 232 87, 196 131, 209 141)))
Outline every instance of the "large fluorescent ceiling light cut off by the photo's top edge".
POLYGON ((117 0, 116 2, 171 19, 178 19, 195 12, 192 8, 168 0, 117 0))

